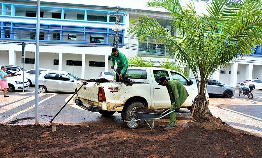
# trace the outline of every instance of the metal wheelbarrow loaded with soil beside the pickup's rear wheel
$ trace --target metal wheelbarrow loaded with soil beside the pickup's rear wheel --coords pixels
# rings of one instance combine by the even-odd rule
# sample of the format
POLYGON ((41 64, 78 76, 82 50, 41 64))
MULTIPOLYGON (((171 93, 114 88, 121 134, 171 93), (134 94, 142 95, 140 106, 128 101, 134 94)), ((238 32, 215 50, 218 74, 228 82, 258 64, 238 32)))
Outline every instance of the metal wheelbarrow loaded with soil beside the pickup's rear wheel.
POLYGON ((155 129, 155 120, 162 119, 163 117, 175 112, 176 110, 168 112, 170 109, 166 110, 160 114, 146 113, 146 112, 137 112, 132 111, 135 115, 129 116, 124 122, 126 122, 129 128, 137 128, 140 124, 141 120, 144 120, 151 130, 155 129), (168 112, 168 113, 167 113, 168 112), (152 121, 152 126, 148 123, 148 121, 152 121))

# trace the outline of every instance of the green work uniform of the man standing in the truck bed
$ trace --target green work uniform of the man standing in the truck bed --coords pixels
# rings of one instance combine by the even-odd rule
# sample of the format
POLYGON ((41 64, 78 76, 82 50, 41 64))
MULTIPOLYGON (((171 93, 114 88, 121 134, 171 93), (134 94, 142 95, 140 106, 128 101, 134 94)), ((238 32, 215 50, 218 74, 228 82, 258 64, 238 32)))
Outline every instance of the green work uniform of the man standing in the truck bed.
POLYGON ((119 71, 124 78, 128 68, 128 59, 122 52, 118 52, 117 57, 115 57, 113 53, 111 53, 111 58, 112 58, 112 65, 115 65, 115 61, 116 61, 117 63, 116 71, 119 71))

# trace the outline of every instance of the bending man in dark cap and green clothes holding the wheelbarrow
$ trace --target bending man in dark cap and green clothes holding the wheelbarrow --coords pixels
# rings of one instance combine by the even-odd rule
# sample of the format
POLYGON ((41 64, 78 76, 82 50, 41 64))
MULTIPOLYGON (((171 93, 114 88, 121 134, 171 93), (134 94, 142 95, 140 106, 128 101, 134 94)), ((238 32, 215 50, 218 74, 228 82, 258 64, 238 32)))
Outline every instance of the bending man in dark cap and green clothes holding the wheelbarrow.
POLYGON ((159 78, 160 83, 158 85, 166 86, 171 101, 170 111, 175 112, 170 114, 169 124, 164 130, 171 130, 176 126, 176 112, 179 111, 180 106, 185 102, 189 94, 182 83, 176 80, 167 80, 165 76, 159 78))

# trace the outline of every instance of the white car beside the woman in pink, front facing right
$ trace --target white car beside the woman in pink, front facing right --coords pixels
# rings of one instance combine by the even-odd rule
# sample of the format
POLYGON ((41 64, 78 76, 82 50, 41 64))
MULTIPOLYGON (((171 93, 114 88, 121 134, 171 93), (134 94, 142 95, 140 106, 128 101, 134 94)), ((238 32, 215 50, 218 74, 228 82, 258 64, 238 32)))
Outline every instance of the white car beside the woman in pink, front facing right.
MULTIPOLYGON (((8 75, 13 74, 8 70, 6 70, 6 73, 8 75)), ((24 84, 23 84, 23 77, 15 74, 7 78, 7 83, 8 83, 8 89, 7 89, 8 92, 12 92, 14 90, 22 90, 23 85, 24 85, 24 89, 29 88, 28 79, 24 78, 24 84)))

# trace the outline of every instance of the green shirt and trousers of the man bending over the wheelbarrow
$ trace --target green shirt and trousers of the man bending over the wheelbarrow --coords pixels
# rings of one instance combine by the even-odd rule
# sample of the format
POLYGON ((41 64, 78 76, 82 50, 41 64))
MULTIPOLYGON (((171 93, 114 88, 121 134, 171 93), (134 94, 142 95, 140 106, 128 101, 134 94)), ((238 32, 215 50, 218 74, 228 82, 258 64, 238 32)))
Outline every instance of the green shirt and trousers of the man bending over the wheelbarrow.
MULTIPOLYGON (((168 80, 166 87, 171 101, 170 111, 179 109, 189 96, 187 90, 182 83, 176 80, 168 80)), ((176 112, 170 114, 169 124, 172 126, 176 124, 176 112)))

